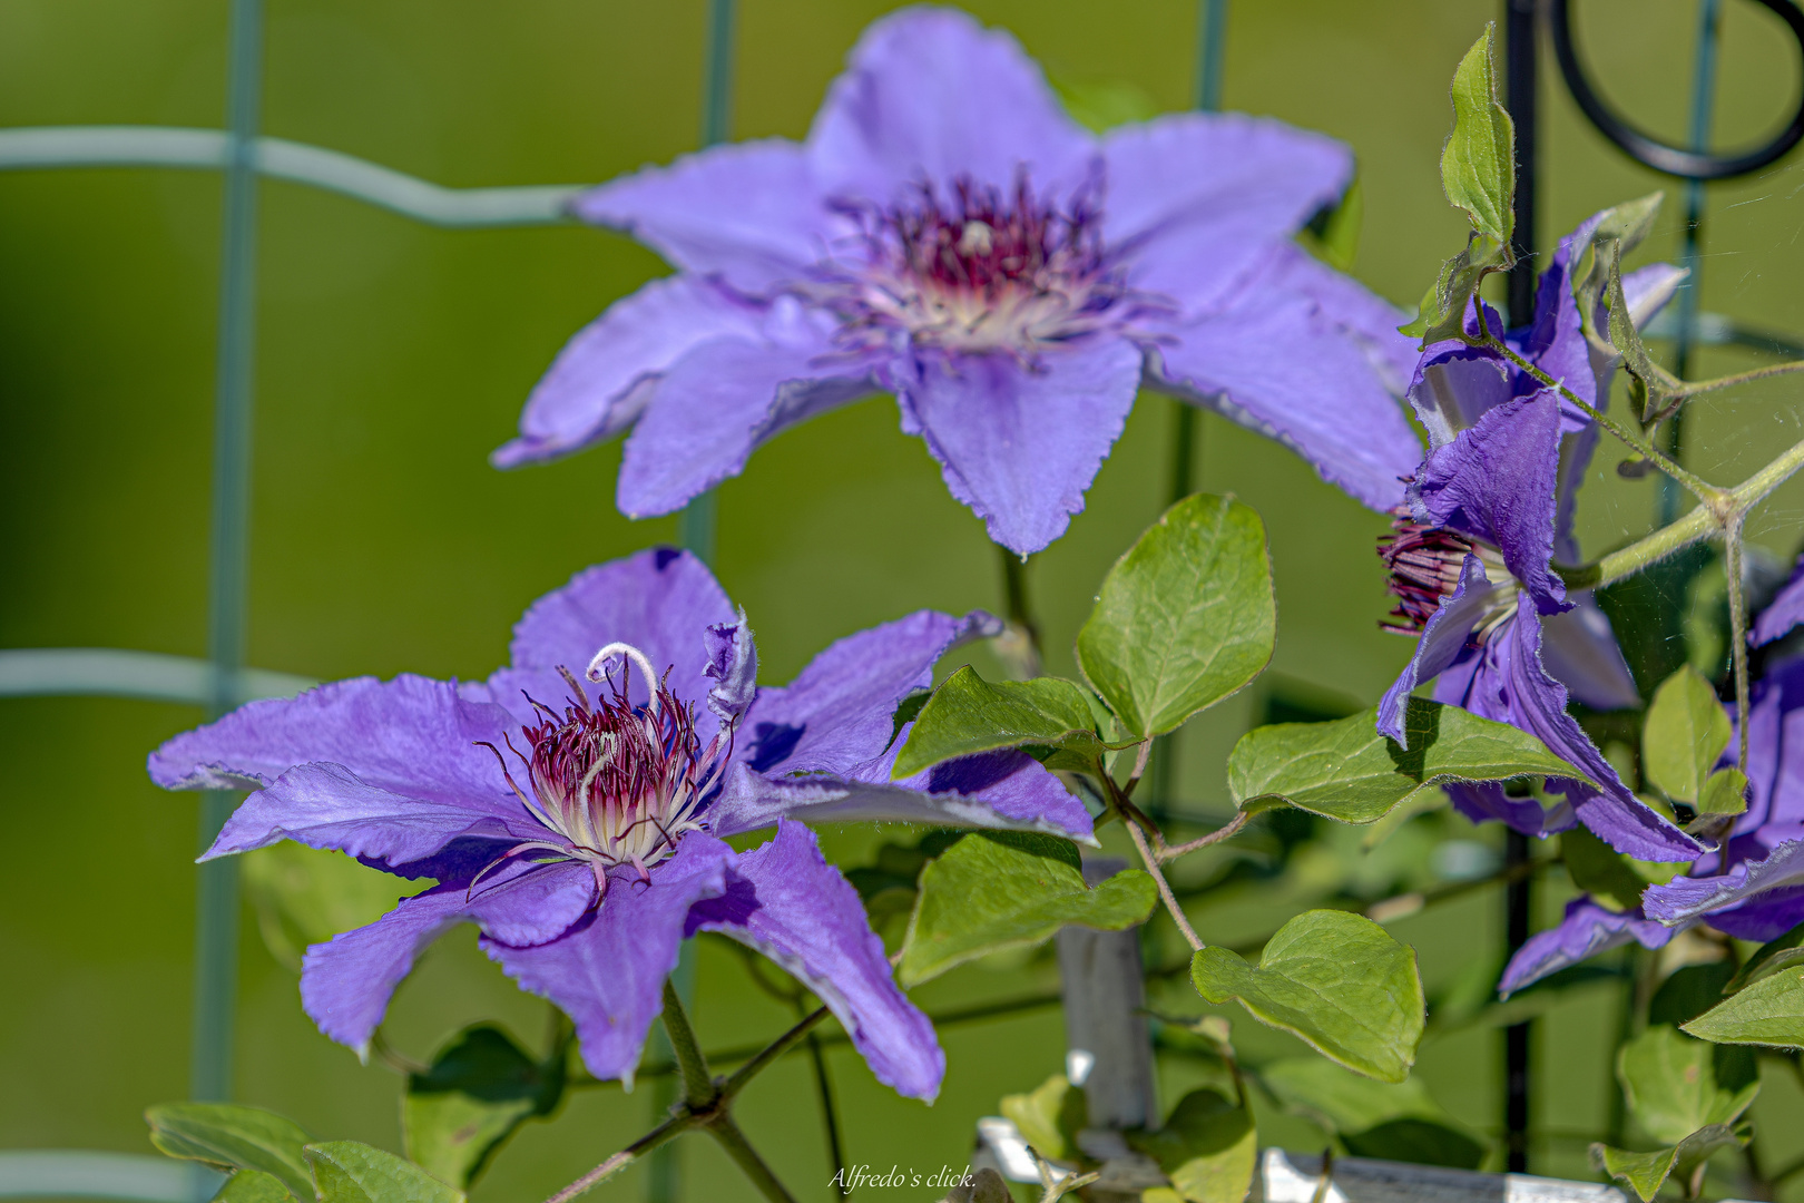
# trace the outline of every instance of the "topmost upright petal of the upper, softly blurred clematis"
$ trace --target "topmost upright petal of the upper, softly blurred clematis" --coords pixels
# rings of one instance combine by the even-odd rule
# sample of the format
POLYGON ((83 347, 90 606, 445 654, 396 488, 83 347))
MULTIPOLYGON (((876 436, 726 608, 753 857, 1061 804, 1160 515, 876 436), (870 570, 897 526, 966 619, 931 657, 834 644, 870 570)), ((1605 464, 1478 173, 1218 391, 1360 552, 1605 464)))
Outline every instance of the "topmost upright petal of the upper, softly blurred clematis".
POLYGON ((1095 153, 1021 43, 953 9, 873 22, 808 132, 823 191, 880 206, 960 177, 1012 188, 1017 171, 1066 193, 1095 153))

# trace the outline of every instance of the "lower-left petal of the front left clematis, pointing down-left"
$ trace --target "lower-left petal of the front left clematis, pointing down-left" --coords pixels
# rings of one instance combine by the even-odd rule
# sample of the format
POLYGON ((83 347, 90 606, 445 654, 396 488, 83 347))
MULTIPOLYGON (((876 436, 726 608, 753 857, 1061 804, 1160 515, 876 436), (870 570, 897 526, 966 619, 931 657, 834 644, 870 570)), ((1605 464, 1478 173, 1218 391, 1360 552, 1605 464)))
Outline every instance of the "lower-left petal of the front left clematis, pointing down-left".
POLYGON ((433 940, 464 920, 521 941, 556 938, 595 902, 595 875, 570 860, 552 866, 514 862, 465 893, 462 882, 437 886, 370 923, 307 949, 301 1006, 319 1030, 363 1048, 413 961, 433 940))

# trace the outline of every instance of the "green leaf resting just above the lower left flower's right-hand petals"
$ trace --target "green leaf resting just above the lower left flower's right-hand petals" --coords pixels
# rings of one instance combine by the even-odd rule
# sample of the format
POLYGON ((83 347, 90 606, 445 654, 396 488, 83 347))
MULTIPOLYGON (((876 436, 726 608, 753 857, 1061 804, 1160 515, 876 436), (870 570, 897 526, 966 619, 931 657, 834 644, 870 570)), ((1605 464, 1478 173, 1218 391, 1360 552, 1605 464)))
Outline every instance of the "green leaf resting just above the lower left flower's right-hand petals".
POLYGON ((1063 676, 990 684, 969 664, 934 691, 920 709, 889 777, 900 781, 922 768, 994 748, 1034 745, 1054 748, 1054 768, 1091 768, 1106 745, 1097 738, 1084 691, 1063 676), (1070 765, 1054 763, 1070 758, 1070 765))

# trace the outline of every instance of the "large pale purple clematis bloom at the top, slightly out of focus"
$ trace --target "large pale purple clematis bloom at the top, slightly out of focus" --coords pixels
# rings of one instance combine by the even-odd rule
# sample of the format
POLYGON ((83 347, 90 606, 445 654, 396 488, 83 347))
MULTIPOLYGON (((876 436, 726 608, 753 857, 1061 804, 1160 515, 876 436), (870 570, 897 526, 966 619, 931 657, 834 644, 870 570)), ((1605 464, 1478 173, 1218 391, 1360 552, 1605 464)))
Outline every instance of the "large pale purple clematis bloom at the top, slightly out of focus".
POLYGON ((532 391, 500 467, 631 431, 619 507, 667 514, 781 429, 886 390, 1019 554, 1057 539, 1146 386, 1279 438, 1389 507, 1422 456, 1402 314, 1292 236, 1346 146, 1245 115, 1081 128, 1003 31, 871 25, 805 142, 716 146, 575 200, 678 274, 532 391))

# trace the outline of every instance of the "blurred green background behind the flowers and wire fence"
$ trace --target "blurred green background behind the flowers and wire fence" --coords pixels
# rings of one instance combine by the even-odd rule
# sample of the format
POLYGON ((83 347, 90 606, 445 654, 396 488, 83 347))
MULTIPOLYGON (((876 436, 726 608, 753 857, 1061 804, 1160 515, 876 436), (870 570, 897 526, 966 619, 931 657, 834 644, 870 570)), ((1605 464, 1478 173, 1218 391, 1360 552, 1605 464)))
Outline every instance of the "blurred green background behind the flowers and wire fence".
MULTIPOLYGON (((220 126, 226 7, 0 0, 0 126, 220 126)), ((846 49, 888 7, 741 4, 734 135, 799 137, 846 49)), ((1129 83, 1158 108, 1191 103, 1196 0, 971 7, 1010 27, 1063 83, 1129 83)), ((1580 7, 1580 40, 1606 92, 1681 137, 1696 0, 1580 7)), ((1726 9, 1717 137, 1743 142, 1782 115, 1799 72, 1777 22, 1755 5, 1726 9)), ((1232 7, 1225 105, 1355 146, 1366 193, 1357 274, 1396 301, 1420 296, 1461 238, 1436 177, 1447 79, 1497 11, 1496 0, 1232 7)), ((693 148, 704 23, 704 0, 271 0, 263 128, 449 186, 603 180, 693 148)), ((1548 70, 1542 245, 1589 211, 1661 186, 1582 123, 1551 79, 1551 58, 1548 70)), ((1788 161, 1712 189, 1705 308, 1804 332, 1800 182, 1788 161)), ((630 523, 613 510, 617 445, 511 474, 485 464, 563 339, 662 274, 655 256, 581 227, 433 231, 280 182, 262 186, 262 206, 253 664, 318 678, 482 676, 503 660, 509 626, 534 597, 584 565, 675 537, 673 519, 630 523)), ((213 173, 0 173, 0 646, 202 655, 218 218, 213 173)), ((1676 227, 1669 206, 1649 253, 1672 254, 1676 227)), ((1752 361, 1717 352, 1703 370, 1743 363, 1752 361)), ((1690 464, 1723 482, 1800 435, 1779 384, 1721 395, 1698 413, 1690 464)), ((1052 671, 1072 669, 1070 642, 1097 581, 1162 507, 1171 422, 1171 402, 1142 399, 1088 510, 1032 565, 1052 671)), ((1203 427, 1201 487, 1261 510, 1279 597, 1272 673, 1183 734, 1178 797, 1209 813, 1225 808, 1227 748, 1261 721, 1274 689, 1364 705, 1409 646, 1375 626, 1387 610, 1371 554, 1384 519, 1275 444, 1216 418, 1203 427)), ((1645 530, 1651 512, 1652 483, 1618 480, 1615 458, 1606 445, 1580 509, 1593 554, 1645 530)), ((1782 491, 1753 521, 1755 537, 1790 554, 1800 501, 1797 487, 1782 491)), ((907 610, 999 604, 980 523, 947 496, 922 444, 898 433, 888 399, 779 436, 720 491, 718 572, 752 617, 770 682, 788 680, 832 638, 907 610)), ((152 788, 143 761, 197 720, 141 702, 0 702, 0 821, 13 848, 0 875, 0 1147, 148 1151, 143 1107, 186 1093, 197 801, 152 788)), ((1496 842, 1496 831, 1459 826, 1447 824, 1496 842)), ((828 844, 842 864, 859 864, 882 839, 902 837, 835 831, 828 844)), ((1389 868, 1362 868, 1357 840, 1346 846, 1313 840, 1279 889, 1243 889, 1198 913, 1203 936, 1257 938, 1349 875, 1391 880, 1389 868)), ((1405 866, 1407 875, 1423 869, 1405 866)), ((1542 922, 1564 889, 1555 871, 1542 922)), ((1499 905, 1496 891, 1481 891, 1393 931, 1422 950, 1434 990, 1494 954, 1499 905)), ((321 1136, 399 1149, 399 1080, 359 1068, 314 1032, 294 976, 249 916, 242 961, 238 1097, 321 1136)), ((918 1001, 934 1010, 1054 981, 1045 958, 974 967, 924 987, 918 1001)), ((1164 1005, 1201 1010, 1187 988, 1164 1005)), ((702 949, 696 1015, 709 1046, 788 1023, 716 947, 702 949)), ((529 1042, 545 1024, 543 1005, 518 994, 465 929, 402 987, 390 1028, 426 1057, 480 1017, 500 1017, 529 1042)), ((1604 988, 1575 992, 1539 1028, 1542 1172, 1589 1176, 1584 1142, 1609 1109, 1615 1023, 1604 988)), ((1301 1051, 1243 1015, 1236 1030, 1254 1055, 1301 1051)), ((857 1057, 833 1053, 850 1160, 962 1165, 972 1120, 1063 1057, 1057 1010, 947 1028, 942 1039, 951 1071, 933 1107, 897 1098, 857 1057)), ((1418 1071, 1481 1133, 1497 1124, 1496 1050, 1492 1030, 1465 1030, 1427 1044, 1418 1071)), ((1185 1073, 1167 1068, 1167 1104, 1185 1073)), ((529 1127, 474 1198, 543 1198, 644 1131, 648 1095, 579 1093, 556 1124, 529 1127)), ((741 1115, 805 1199, 828 1198, 803 1061, 769 1073, 741 1115)), ((1755 1118, 1770 1165, 1804 1151, 1795 1080, 1768 1073, 1755 1118)), ((1263 1116, 1261 1127, 1297 1149, 1324 1140, 1293 1116, 1263 1116)), ((686 1198, 750 1198, 711 1143, 680 1149, 686 1198)), ((1799 1190, 1795 1180, 1793 1196, 1804 1198, 1799 1190)), ((637 1171, 604 1192, 639 1198, 637 1171)))

